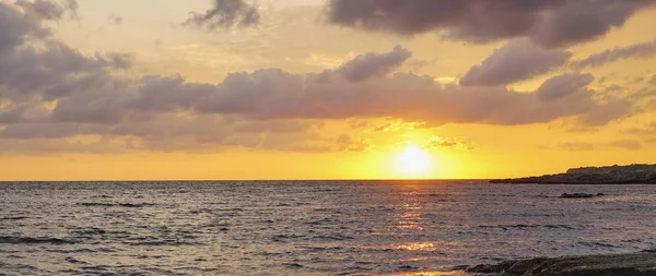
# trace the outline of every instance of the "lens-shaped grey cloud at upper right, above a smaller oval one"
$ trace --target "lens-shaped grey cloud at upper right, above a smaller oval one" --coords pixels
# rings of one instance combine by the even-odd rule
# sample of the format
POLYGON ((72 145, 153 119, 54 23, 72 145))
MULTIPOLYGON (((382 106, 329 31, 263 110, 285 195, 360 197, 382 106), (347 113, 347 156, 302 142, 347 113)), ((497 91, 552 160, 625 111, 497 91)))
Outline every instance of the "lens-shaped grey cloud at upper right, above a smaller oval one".
POLYGON ((494 50, 460 80, 461 85, 505 85, 544 74, 564 64, 569 51, 541 49, 527 41, 513 41, 494 50))

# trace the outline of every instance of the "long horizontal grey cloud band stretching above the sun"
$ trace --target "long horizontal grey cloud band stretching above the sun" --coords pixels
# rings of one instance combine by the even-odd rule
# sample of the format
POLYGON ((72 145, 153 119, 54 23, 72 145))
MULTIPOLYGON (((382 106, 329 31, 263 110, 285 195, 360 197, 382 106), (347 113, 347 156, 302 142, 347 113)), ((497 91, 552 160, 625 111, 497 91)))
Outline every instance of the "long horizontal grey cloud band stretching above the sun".
MULTIPOLYGON (((112 94, 110 97, 122 97, 113 103, 119 103, 117 112, 124 115, 138 110, 195 111, 256 120, 394 117, 432 124, 526 124, 579 116, 586 117, 582 122, 597 124, 602 119, 612 120, 628 111, 617 109, 617 106, 624 107, 617 100, 597 103, 593 98, 594 92, 584 88, 590 75, 579 76, 583 81, 565 76, 549 80, 540 93, 442 85, 431 76, 412 73, 396 73, 355 83, 348 80, 317 83, 313 76, 267 69, 230 74, 216 85, 189 83, 180 77, 147 77, 134 84, 138 87, 130 93, 112 94), (561 95, 559 93, 563 92, 557 91, 559 87, 571 89, 561 95), (544 100, 554 97, 567 97, 567 100, 544 100), (616 109, 622 112, 601 116, 616 109)), ((81 103, 85 101, 89 100, 81 103)), ((67 101, 61 103, 56 111, 67 101)), ((77 105, 66 107, 75 108, 77 105)), ((626 107, 630 109, 631 105, 626 107)))

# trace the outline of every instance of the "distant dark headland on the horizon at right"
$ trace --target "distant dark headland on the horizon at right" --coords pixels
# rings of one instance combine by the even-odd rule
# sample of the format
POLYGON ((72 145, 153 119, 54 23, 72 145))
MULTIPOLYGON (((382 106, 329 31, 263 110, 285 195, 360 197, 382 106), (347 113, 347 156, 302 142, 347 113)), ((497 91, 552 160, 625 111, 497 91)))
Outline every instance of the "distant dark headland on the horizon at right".
POLYGON ((565 173, 541 177, 494 179, 490 183, 523 184, 656 184, 656 165, 582 167, 565 173))

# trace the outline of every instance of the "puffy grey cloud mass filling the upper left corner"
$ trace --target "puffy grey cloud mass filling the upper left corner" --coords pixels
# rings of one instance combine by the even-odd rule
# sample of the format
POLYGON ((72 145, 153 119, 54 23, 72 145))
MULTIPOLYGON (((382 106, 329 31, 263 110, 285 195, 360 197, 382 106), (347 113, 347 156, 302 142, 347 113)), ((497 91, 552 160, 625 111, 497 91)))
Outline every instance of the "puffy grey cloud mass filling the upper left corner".
POLYGON ((74 1, 0 2, 0 98, 14 104, 55 100, 115 82, 110 70, 129 69, 133 57, 86 57, 50 37, 45 21, 75 9, 74 1), (25 43, 37 41, 38 48, 25 43))

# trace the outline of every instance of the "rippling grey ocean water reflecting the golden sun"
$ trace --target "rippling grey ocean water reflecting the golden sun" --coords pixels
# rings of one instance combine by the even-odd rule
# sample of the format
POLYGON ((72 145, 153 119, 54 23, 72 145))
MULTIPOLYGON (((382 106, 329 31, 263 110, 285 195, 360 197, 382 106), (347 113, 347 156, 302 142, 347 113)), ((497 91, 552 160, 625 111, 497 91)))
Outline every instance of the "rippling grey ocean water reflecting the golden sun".
POLYGON ((0 275, 441 275, 654 249, 654 218, 656 185, 4 182, 0 275))

